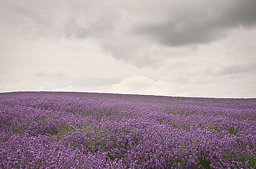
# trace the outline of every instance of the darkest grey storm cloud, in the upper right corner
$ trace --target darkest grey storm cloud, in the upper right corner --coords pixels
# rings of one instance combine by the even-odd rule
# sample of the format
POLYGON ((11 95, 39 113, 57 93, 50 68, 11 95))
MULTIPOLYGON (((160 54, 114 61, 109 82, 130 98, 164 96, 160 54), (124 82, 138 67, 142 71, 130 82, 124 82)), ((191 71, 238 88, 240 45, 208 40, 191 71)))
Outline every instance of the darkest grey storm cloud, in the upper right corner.
POLYGON ((203 8, 192 5, 182 11, 170 11, 165 22, 142 24, 134 31, 149 35, 165 45, 180 46, 212 42, 227 36, 229 28, 256 25, 256 0, 207 2, 209 4, 203 8))

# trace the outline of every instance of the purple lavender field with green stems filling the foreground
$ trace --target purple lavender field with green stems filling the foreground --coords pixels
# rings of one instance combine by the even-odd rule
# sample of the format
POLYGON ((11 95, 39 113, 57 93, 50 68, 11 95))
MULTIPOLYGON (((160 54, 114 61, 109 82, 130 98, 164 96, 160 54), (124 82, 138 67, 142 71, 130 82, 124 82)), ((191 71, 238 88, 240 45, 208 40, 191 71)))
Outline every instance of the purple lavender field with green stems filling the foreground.
POLYGON ((256 169, 256 99, 0 94, 2 169, 256 169))

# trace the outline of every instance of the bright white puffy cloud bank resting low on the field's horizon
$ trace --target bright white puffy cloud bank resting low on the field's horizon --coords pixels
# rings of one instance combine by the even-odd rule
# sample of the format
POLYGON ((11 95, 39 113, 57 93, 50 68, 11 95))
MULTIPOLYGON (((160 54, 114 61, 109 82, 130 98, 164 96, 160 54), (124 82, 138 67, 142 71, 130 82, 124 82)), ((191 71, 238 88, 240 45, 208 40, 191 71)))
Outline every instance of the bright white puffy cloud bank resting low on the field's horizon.
MULTIPOLYGON (((218 84, 182 84, 171 83, 163 80, 155 81, 145 76, 127 77, 119 84, 113 84, 109 89, 111 93, 185 96, 185 97, 215 97, 215 98, 239 98, 241 93, 249 93, 252 86, 237 88, 236 85, 220 87, 218 84), (248 91, 245 91, 247 90, 248 91), (232 93, 233 91, 233 93, 232 93), (230 96, 232 93, 232 96, 230 96)), ((244 95, 245 98, 253 95, 244 95)))

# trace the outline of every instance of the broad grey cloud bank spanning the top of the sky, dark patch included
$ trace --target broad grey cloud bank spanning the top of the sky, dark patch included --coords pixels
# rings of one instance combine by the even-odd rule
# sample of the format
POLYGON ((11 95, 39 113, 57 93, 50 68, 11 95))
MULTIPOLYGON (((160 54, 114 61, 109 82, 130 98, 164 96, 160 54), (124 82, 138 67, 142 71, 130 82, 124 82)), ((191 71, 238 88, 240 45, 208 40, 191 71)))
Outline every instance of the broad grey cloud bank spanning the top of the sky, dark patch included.
MULTIPOLYGON (((256 0, 6 1, 3 14, 26 38, 91 40, 115 59, 159 68, 172 49, 229 36, 256 24, 256 0), (166 52, 162 52, 165 50, 166 52)), ((6 18, 3 18, 6 21, 6 18)))

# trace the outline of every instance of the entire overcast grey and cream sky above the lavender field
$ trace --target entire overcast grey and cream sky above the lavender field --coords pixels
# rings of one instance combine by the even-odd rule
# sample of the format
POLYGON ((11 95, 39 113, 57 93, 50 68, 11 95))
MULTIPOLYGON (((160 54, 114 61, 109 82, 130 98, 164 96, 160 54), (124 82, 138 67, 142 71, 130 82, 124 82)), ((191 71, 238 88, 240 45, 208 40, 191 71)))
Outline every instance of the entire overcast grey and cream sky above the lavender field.
POLYGON ((0 92, 256 97, 256 0, 0 0, 0 92))

